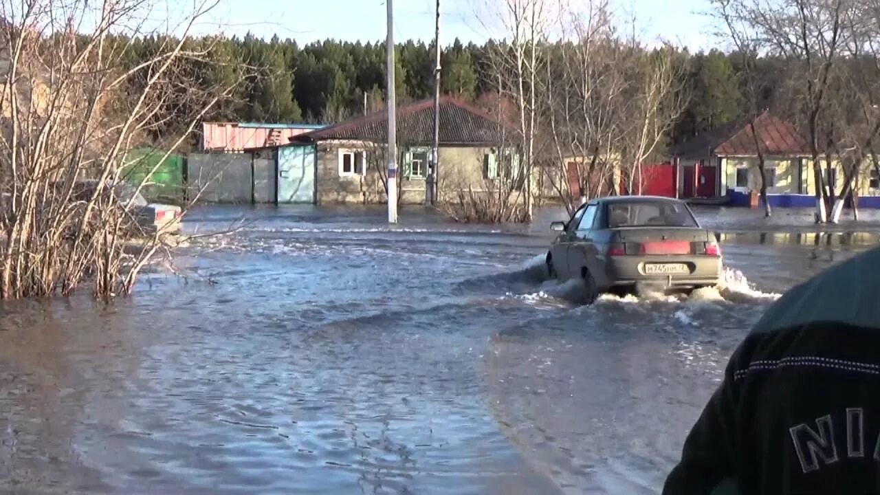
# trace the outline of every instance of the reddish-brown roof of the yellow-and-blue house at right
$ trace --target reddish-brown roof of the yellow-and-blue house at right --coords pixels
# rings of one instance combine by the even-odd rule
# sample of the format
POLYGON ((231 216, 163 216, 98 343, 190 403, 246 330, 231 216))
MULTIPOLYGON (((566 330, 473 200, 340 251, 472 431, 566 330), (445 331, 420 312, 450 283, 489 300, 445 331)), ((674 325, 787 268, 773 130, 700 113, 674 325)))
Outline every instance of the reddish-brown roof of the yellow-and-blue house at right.
MULTIPOLYGON (((807 141, 790 122, 764 112, 754 120, 761 151, 768 155, 808 155, 807 141)), ((730 122, 679 145, 673 151, 678 157, 700 158, 708 152, 719 156, 757 156, 758 149, 747 119, 730 122)))

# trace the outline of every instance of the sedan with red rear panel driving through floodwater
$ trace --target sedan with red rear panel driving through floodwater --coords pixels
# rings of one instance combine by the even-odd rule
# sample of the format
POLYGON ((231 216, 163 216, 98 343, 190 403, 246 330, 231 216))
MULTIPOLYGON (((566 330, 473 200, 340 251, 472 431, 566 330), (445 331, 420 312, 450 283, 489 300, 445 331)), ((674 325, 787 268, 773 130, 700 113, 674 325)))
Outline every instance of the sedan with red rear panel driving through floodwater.
POLYGON ((613 196, 583 204, 546 255, 551 276, 583 279, 584 301, 628 292, 636 284, 696 289, 718 284, 721 247, 686 203, 656 196, 613 196))

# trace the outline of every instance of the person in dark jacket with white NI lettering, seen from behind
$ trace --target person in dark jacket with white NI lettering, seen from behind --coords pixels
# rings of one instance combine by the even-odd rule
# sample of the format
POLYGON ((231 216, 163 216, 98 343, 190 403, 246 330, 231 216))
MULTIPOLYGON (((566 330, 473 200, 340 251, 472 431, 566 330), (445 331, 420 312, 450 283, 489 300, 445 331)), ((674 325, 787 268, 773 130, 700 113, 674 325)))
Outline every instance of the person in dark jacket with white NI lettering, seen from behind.
POLYGON ((880 248, 786 292, 730 358, 663 495, 880 494, 880 248))

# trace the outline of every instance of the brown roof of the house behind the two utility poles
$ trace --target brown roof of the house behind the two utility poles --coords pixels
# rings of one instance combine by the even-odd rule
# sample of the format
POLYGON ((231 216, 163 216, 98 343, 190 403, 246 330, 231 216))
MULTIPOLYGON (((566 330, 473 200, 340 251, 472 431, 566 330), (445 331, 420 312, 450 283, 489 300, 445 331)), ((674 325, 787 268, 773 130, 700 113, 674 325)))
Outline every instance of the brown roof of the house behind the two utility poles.
MULTIPOLYGON (((385 143, 388 140, 388 114, 380 110, 324 129, 293 137, 291 141, 356 139, 385 143)), ((486 112, 451 96, 440 99, 440 144, 497 144, 500 137, 497 120, 486 112)), ((417 101, 397 107, 399 143, 429 144, 434 139, 434 100, 417 101)))

